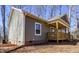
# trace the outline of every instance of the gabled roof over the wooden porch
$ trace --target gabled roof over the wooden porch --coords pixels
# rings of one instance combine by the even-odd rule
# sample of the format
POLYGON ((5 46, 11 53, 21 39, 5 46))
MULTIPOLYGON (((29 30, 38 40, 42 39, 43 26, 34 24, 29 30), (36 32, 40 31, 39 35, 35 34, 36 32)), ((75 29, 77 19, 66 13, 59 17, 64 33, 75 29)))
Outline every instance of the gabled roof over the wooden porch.
POLYGON ((52 24, 52 25, 56 25, 57 22, 59 24, 62 24, 63 26, 65 26, 67 28, 70 28, 69 19, 68 19, 67 14, 64 14, 64 15, 61 15, 61 16, 56 16, 56 17, 48 20, 48 23, 52 24))

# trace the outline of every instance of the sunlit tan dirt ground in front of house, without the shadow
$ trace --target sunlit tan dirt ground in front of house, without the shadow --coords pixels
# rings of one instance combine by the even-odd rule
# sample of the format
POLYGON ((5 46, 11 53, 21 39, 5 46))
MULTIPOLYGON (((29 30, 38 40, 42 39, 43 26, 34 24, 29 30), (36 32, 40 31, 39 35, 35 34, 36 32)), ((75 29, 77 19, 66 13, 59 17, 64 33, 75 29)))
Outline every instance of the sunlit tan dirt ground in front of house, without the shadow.
POLYGON ((78 53, 79 45, 39 45, 25 46, 12 53, 78 53))

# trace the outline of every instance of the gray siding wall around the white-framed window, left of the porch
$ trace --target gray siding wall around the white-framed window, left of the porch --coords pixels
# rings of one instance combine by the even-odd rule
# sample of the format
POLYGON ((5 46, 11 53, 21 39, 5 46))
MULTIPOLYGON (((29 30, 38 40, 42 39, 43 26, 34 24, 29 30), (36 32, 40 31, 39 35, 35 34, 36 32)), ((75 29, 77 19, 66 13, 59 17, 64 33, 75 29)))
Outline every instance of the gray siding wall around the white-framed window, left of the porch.
POLYGON ((26 17, 26 40, 25 41, 46 41, 47 40, 47 32, 49 32, 49 28, 44 24, 41 23, 42 25, 42 33, 41 36, 36 36, 35 35, 35 22, 38 22, 30 17, 26 17))

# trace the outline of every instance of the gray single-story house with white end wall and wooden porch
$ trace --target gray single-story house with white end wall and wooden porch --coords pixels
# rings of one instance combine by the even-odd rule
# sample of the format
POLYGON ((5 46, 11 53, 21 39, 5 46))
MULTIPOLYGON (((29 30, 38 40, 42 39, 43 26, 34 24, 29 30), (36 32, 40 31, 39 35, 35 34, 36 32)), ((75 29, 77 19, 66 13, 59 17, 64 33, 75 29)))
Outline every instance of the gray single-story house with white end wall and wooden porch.
POLYGON ((48 21, 12 7, 9 16, 8 42, 16 45, 41 44, 48 40, 69 39, 67 15, 48 21))

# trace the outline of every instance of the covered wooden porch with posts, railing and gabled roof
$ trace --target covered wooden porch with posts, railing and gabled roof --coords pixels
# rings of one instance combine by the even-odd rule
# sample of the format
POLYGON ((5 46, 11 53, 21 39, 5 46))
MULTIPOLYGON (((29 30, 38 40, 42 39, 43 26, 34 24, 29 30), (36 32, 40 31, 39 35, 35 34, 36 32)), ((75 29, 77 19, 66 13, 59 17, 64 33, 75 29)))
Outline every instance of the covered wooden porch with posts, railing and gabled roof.
POLYGON ((49 21, 50 32, 47 33, 48 40, 69 40, 70 32, 69 32, 69 23, 64 21, 64 19, 56 18, 54 20, 49 21))

